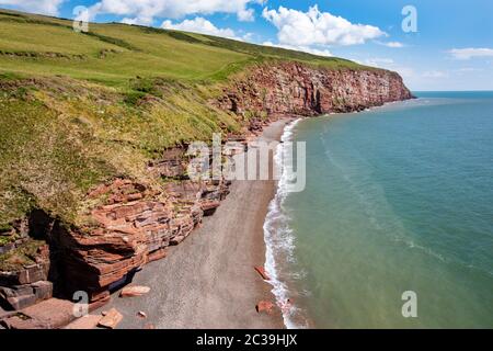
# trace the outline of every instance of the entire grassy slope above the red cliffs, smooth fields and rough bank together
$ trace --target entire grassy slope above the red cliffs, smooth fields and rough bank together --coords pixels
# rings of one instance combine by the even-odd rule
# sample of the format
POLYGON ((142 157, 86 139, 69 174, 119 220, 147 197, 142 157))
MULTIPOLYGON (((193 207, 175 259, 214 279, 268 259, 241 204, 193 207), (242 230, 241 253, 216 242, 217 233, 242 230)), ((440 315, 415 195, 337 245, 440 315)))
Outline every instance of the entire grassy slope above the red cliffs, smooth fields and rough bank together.
POLYGON ((83 223, 81 200, 94 184, 121 174, 156 182, 144 165, 163 148, 239 132, 241 117, 207 101, 249 65, 363 68, 199 34, 71 25, 0 11, 0 230, 33 207, 83 223))

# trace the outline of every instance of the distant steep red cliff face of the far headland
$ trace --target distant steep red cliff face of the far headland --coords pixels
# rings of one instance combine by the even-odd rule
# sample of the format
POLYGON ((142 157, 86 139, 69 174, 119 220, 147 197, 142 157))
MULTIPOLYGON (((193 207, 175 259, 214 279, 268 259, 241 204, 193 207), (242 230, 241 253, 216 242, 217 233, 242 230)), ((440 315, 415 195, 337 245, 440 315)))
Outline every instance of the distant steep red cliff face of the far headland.
POLYGON ((402 78, 386 70, 329 70, 298 63, 261 66, 219 99, 234 113, 319 115, 360 111, 411 99, 402 78))

